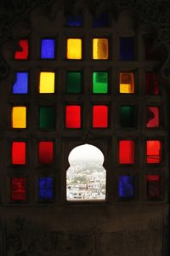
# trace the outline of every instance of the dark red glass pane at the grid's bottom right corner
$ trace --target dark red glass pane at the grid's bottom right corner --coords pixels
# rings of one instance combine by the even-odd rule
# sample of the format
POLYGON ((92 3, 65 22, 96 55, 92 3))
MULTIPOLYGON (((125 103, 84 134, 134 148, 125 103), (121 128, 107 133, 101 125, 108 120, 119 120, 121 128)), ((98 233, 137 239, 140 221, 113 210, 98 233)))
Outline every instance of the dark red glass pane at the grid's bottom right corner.
POLYGON ((161 177, 159 175, 147 176, 147 196, 150 199, 159 198, 161 195, 161 177))

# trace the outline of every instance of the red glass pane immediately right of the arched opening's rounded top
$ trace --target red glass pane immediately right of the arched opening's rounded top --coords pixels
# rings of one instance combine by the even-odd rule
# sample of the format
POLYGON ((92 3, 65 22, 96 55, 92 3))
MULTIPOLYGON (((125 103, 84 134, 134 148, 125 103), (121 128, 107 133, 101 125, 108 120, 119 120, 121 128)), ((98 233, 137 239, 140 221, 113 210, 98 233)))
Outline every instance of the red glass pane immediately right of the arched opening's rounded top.
POLYGON ((134 142, 130 140, 119 142, 119 163, 134 164, 134 142))

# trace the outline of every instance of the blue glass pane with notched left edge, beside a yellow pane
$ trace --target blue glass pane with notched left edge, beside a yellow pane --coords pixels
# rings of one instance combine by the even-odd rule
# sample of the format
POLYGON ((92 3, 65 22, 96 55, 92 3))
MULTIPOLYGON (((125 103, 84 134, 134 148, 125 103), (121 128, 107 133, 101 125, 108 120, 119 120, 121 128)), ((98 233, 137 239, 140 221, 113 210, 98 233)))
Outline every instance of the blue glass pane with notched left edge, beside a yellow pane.
POLYGON ((13 94, 26 94, 28 92, 28 73, 17 72, 16 81, 13 84, 13 94))

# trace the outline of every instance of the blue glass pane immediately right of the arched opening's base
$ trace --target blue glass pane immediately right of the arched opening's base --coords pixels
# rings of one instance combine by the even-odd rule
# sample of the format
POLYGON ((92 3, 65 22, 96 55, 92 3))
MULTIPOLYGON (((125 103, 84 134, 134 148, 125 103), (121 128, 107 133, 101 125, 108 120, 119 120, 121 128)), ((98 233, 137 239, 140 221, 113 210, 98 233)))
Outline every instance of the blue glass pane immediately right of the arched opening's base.
POLYGON ((134 177, 133 176, 120 176, 119 177, 119 196, 133 197, 134 196, 134 177))

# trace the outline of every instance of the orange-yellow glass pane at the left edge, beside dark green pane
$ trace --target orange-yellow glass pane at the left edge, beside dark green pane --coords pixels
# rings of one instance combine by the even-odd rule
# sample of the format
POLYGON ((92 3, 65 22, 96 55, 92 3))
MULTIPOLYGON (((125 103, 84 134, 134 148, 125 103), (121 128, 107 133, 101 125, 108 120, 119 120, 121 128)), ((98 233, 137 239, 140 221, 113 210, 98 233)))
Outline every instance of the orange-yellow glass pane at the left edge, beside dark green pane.
POLYGON ((12 109, 12 127, 26 128, 26 107, 14 107, 12 109))

